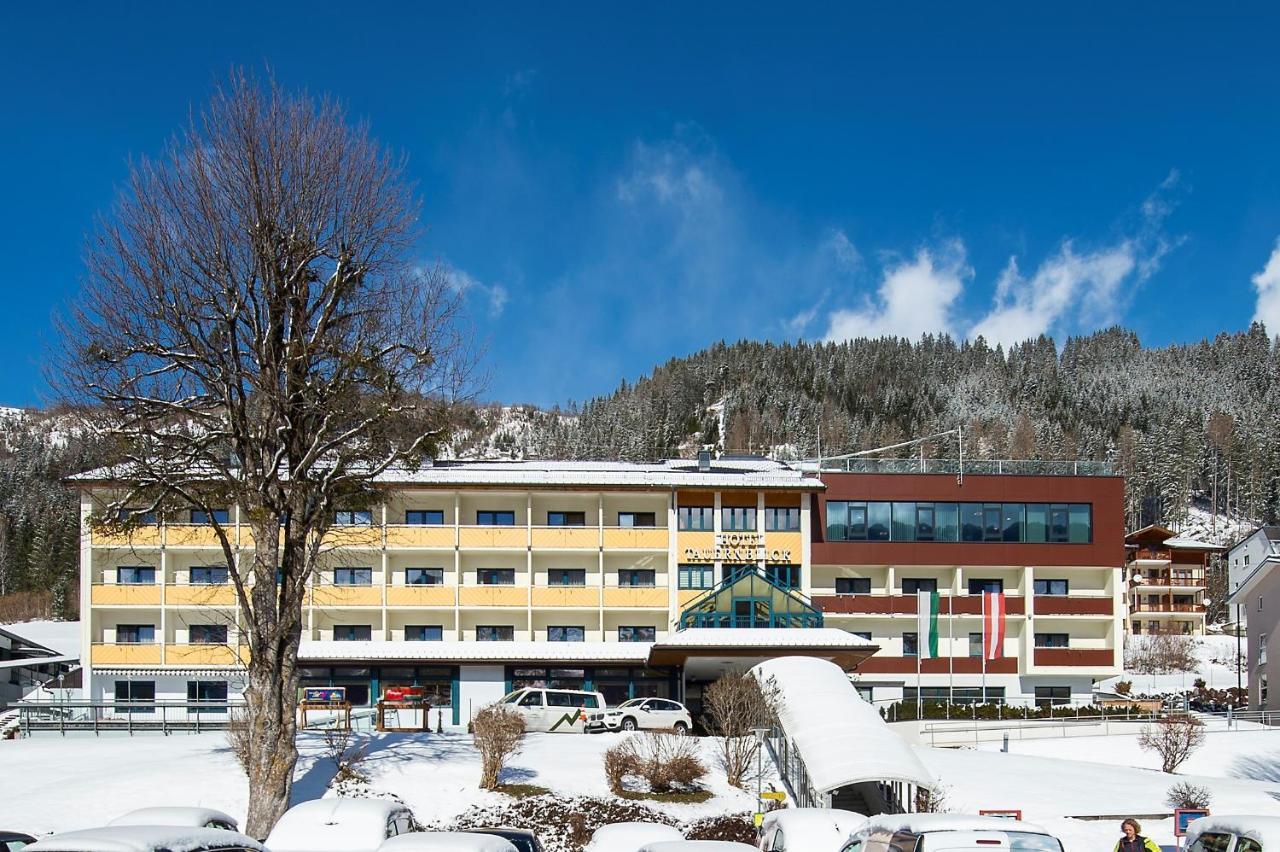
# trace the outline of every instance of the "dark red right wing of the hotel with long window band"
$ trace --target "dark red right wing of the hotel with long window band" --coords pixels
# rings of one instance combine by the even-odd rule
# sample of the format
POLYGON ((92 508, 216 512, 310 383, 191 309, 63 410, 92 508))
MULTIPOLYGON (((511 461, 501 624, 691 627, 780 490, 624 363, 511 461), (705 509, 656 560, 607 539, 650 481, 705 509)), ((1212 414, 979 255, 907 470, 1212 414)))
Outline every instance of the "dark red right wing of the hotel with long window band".
POLYGON ((818 466, 810 582, 824 624, 879 647, 874 700, 1089 702, 1121 672, 1124 481, 1102 464, 845 459, 818 466), (937 472, 934 472, 937 471, 937 472), (918 592, 938 595, 920 659, 918 592), (1005 637, 983 656, 983 592, 1005 637), (916 674, 919 672, 919 675, 916 674))

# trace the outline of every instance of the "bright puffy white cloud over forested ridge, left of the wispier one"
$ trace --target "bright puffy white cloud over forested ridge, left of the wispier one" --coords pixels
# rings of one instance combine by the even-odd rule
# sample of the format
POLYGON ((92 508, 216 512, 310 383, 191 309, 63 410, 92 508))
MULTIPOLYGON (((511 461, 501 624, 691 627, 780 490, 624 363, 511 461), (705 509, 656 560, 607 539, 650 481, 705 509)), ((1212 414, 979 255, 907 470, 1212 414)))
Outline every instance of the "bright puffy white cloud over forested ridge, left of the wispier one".
POLYGON ((952 327, 952 311, 973 276, 960 241, 945 243, 937 252, 922 248, 911 260, 884 270, 877 298, 861 307, 831 313, 827 340, 896 335, 918 339, 927 333, 952 327))

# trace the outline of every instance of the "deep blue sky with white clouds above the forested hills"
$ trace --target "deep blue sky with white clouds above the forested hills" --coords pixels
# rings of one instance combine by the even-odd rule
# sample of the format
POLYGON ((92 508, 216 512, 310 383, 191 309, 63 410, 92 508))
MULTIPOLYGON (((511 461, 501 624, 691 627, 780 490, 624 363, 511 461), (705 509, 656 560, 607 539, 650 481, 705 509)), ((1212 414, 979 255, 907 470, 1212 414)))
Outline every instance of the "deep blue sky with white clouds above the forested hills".
POLYGON ((410 155, 484 399, 719 339, 1280 331, 1276 4, 38 5, 0 9, 3 403, 237 64, 410 155))

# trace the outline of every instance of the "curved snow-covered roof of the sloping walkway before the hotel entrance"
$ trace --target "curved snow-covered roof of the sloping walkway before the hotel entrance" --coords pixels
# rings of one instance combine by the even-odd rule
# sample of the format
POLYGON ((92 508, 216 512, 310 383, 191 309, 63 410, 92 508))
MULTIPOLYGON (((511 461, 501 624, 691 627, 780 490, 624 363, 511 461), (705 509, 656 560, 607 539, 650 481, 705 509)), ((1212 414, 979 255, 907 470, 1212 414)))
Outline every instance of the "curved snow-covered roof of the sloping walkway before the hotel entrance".
MULTIPOLYGON (((724 631, 740 633, 742 631, 724 631)), ((778 722, 818 793, 861 782, 931 785, 933 777, 835 663, 780 656, 751 669, 778 688, 778 722)))

